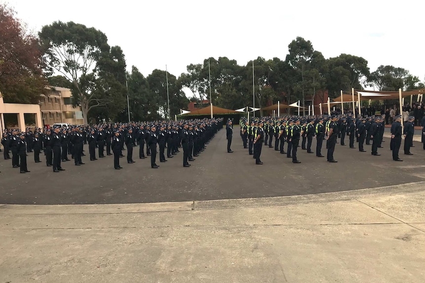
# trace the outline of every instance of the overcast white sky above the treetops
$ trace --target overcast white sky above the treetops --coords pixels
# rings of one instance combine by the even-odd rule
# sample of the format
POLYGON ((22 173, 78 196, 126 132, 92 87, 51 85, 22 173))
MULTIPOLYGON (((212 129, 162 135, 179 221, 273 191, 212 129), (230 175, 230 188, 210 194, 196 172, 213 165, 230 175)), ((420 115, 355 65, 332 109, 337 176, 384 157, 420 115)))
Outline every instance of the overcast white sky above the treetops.
MULTIPOLYGON (((0 0, 4 2, 5 0, 0 0)), ((177 77, 190 63, 227 57, 245 65, 258 56, 284 60, 302 36, 325 58, 361 56, 371 71, 403 67, 424 80, 424 8, 420 0, 6 0, 39 31, 73 21, 106 33, 124 51, 127 69, 177 77)))

